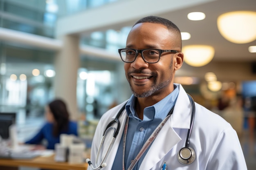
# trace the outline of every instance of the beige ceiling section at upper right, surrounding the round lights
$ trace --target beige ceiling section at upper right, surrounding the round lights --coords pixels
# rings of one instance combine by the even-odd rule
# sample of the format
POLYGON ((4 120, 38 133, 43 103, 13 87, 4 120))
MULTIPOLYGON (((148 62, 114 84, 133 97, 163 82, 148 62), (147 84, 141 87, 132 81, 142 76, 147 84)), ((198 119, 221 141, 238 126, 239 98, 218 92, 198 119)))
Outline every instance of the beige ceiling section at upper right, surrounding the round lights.
POLYGON ((213 61, 256 61, 256 53, 249 53, 248 51, 249 46, 256 45, 256 40, 247 44, 234 44, 225 40, 217 28, 217 18, 219 15, 229 11, 243 10, 256 11, 256 0, 217 0, 195 7, 164 13, 161 16, 173 20, 182 32, 189 32, 191 34, 191 39, 183 41, 183 46, 189 44, 213 46, 215 49, 213 61), (188 20, 186 15, 189 12, 195 11, 205 13, 206 18, 201 21, 188 20))

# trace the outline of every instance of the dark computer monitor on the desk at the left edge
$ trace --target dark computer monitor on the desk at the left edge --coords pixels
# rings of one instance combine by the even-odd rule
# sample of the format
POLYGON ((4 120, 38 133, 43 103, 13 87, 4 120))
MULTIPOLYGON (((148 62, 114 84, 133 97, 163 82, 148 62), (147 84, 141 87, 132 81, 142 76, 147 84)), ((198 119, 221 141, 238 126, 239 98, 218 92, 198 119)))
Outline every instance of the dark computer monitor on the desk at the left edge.
POLYGON ((0 137, 9 139, 9 127, 16 123, 16 113, 0 112, 0 137))

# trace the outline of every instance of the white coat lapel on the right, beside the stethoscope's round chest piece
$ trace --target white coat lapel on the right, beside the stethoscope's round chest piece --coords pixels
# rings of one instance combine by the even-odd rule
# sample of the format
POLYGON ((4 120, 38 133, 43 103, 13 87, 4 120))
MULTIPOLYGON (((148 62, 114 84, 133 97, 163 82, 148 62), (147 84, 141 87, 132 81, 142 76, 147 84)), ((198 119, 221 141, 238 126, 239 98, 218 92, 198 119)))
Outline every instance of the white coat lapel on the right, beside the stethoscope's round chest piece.
POLYGON ((174 106, 173 114, 166 121, 166 124, 155 138, 155 141, 153 141, 152 146, 142 161, 140 167, 143 167, 141 168, 143 170, 149 170, 155 166, 181 140, 181 137, 173 128, 189 129, 191 104, 183 87, 178 85, 178 88, 179 95, 174 106))

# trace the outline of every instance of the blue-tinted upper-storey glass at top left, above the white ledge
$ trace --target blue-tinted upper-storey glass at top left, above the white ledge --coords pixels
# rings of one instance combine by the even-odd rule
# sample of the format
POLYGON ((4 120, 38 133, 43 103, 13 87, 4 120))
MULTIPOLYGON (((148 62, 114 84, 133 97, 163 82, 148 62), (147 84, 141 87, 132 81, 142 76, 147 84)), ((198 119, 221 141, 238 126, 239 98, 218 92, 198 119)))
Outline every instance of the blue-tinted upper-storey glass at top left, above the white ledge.
POLYGON ((0 27, 54 38, 59 17, 117 0, 0 0, 0 27))

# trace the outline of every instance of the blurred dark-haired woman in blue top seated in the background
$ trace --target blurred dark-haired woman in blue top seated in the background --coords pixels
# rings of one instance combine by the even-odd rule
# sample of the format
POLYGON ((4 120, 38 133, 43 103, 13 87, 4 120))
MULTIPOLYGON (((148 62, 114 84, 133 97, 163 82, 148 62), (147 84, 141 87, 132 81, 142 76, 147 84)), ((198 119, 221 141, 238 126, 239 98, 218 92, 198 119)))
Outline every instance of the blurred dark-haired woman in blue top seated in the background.
POLYGON ((25 144, 42 144, 43 140, 46 140, 46 148, 54 150, 55 144, 60 143, 61 134, 77 136, 77 124, 70 121, 67 106, 63 100, 56 99, 45 106, 45 118, 47 122, 25 144))

